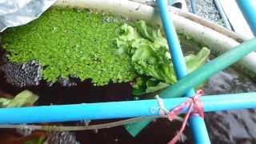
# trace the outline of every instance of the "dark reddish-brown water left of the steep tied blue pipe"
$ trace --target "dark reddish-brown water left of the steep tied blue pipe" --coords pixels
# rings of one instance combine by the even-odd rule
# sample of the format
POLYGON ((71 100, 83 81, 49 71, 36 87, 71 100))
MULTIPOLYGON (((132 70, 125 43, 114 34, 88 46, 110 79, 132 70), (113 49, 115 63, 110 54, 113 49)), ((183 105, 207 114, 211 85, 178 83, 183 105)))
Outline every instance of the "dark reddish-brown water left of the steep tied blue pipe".
MULTIPOLYGON (((18 94, 18 92, 28 89, 40 96, 38 105, 50 105, 50 104, 66 104, 66 103, 81 103, 81 102, 113 102, 113 101, 126 101, 133 99, 131 95, 131 87, 129 83, 124 84, 110 84, 109 86, 94 87, 90 82, 79 83, 74 87, 62 87, 57 85, 47 86, 46 83, 42 83, 38 87, 27 87, 18 89, 11 87, 10 84, 5 83, 5 79, 0 76, 1 83, 0 88, 2 94, 18 94)), ((90 124, 98 124, 108 121, 94 121, 90 124)), ((69 123, 70 124, 70 123, 69 123)), ((74 123, 71 123, 74 125, 74 123)), ((82 122, 75 122, 75 124, 82 125, 82 122)), ((78 131, 75 133, 76 140, 80 143, 166 143, 174 136, 174 132, 180 127, 180 122, 168 122, 166 119, 159 119, 156 122, 152 122, 150 126, 147 126, 142 130, 141 134, 138 134, 136 138, 130 136, 130 134, 122 127, 114 127, 110 129, 98 130, 95 133, 94 130, 78 131)), ((15 130, 1 130, 0 131, 0 143, 18 143, 17 141, 2 141, 1 138, 6 133, 10 133, 12 138, 21 138, 19 134, 15 134, 15 130)), ((69 134, 56 134, 56 138, 63 143, 65 139, 70 138, 69 134), (62 139, 62 140, 61 140, 62 139)), ((186 130, 186 135, 190 135, 189 130, 186 130)), ((56 139, 55 138, 55 139, 56 139)), ((72 139, 72 138, 71 138, 72 139)), ((74 139, 74 138, 73 138, 74 139)), ((68 141, 68 140, 66 140, 68 141)), ((190 138, 186 142, 190 142, 190 138)), ((56 143, 56 140, 53 142, 56 143)), ((64 142, 65 143, 65 142, 64 142)), ((66 142, 70 143, 70 142, 66 142)))

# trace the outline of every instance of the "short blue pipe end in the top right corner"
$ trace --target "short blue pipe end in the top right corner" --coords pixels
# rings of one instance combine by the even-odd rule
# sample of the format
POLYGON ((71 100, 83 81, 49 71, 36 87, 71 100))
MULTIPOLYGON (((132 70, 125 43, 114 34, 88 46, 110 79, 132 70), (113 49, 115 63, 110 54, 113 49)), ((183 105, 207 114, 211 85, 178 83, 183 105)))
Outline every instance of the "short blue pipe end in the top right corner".
POLYGON ((256 1, 255 0, 237 0, 242 14, 246 18, 250 29, 253 31, 254 36, 256 36, 256 1))

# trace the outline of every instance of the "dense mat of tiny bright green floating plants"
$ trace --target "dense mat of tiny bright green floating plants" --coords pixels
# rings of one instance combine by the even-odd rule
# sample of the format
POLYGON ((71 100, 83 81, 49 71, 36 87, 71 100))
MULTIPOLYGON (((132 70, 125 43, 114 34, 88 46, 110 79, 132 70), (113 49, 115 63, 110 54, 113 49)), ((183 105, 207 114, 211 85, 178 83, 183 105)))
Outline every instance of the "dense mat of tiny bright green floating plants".
POLYGON ((52 8, 26 26, 2 34, 10 62, 38 60, 47 82, 90 79, 97 86, 130 82, 135 77, 128 55, 116 54, 121 18, 89 10, 52 8))

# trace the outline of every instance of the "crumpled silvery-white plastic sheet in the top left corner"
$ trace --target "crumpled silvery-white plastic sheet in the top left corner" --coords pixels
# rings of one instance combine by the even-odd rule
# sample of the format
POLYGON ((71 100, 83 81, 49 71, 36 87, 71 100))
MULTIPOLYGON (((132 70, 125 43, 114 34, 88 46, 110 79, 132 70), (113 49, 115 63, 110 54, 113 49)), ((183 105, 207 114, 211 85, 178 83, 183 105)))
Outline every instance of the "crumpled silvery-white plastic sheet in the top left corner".
POLYGON ((0 32, 38 18, 56 0, 0 0, 0 32))

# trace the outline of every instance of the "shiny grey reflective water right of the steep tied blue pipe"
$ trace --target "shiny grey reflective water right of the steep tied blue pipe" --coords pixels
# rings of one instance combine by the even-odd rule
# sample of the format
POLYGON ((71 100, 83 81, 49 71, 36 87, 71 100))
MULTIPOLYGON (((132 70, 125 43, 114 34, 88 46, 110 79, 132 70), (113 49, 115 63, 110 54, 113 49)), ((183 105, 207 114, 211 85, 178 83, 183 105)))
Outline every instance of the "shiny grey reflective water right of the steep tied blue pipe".
MULTIPOLYGON (((250 78, 226 70, 210 78, 206 94, 255 92, 250 78)), ((256 111, 230 110, 206 114, 206 126, 212 143, 256 143, 256 111)))

